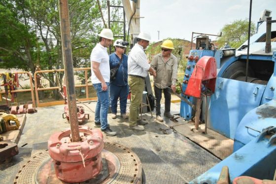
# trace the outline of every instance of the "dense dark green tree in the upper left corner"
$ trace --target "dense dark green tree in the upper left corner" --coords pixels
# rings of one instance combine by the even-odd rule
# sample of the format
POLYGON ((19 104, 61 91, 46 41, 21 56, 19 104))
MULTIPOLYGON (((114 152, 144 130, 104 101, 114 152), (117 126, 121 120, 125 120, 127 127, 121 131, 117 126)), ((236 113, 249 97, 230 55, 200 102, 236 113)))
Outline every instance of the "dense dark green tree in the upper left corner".
POLYGON ((35 72, 35 32, 29 25, 26 1, 0 2, 1 68, 20 68, 35 72))

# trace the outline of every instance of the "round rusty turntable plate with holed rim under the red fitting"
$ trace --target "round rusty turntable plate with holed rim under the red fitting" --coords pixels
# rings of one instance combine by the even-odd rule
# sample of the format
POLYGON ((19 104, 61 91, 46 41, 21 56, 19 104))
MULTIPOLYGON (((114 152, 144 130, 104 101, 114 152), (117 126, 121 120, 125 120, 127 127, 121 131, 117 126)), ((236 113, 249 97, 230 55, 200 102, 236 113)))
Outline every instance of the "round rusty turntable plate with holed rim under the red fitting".
MULTIPOLYGON (((142 167, 138 156, 129 148, 116 143, 104 143, 104 166, 99 177, 81 184, 139 184, 142 182, 142 167), (106 173, 108 172, 108 173, 106 173), (102 174, 102 175, 101 175, 102 174)), ((48 151, 42 151, 27 161, 17 173, 16 184, 65 184, 55 178, 52 160, 48 151)))

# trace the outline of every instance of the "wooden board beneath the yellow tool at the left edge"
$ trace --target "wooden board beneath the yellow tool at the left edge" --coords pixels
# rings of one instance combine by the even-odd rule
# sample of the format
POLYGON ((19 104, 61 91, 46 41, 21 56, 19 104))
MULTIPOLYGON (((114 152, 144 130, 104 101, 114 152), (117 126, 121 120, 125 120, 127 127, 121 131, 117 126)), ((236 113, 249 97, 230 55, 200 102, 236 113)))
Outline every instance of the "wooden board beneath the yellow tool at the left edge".
POLYGON ((26 114, 17 114, 16 115, 18 120, 19 120, 19 129, 18 130, 10 130, 7 132, 4 132, 1 134, 1 136, 4 138, 4 140, 10 140, 13 143, 18 143, 19 139, 20 139, 20 135, 23 131, 23 128, 25 126, 25 122, 26 122, 26 114))

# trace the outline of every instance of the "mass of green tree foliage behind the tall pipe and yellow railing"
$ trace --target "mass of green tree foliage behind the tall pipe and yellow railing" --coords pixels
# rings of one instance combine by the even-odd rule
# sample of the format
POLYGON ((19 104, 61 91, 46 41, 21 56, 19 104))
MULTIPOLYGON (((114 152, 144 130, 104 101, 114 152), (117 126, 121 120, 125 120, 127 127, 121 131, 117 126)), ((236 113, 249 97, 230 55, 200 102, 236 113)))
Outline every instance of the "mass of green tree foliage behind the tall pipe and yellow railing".
MULTIPOLYGON (((100 4, 107 22, 106 0, 100 0, 100 4)), ((115 4, 115 0, 110 4, 115 4)), ((122 16, 118 10, 111 12, 111 20, 118 20, 118 16, 122 16)), ((69 0, 69 20, 73 65, 88 67, 97 34, 104 28, 97 1, 69 0)), ((111 26, 114 35, 122 30, 117 23, 111 26)), ((0 59, 0 68, 33 74, 36 65, 41 70, 63 69, 58 0, 0 1, 0 59)), ((52 76, 44 77, 54 85, 52 76)))

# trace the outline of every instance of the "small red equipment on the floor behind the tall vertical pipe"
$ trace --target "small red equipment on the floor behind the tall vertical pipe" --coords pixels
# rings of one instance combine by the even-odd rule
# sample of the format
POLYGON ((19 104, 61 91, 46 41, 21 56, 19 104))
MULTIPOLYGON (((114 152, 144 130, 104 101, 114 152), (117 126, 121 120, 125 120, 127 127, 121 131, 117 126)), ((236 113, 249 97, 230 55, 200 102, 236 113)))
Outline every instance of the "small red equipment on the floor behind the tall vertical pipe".
MULTIPOLYGON (((62 114, 62 117, 69 121, 69 108, 67 105, 67 93, 66 93, 66 86, 63 86, 63 92, 60 92, 63 99, 65 100, 66 106, 64 106, 64 113, 62 114)), ((77 118, 78 118, 78 124, 82 124, 85 119, 89 119, 89 114, 84 113, 84 108, 82 106, 77 106, 77 118)))

